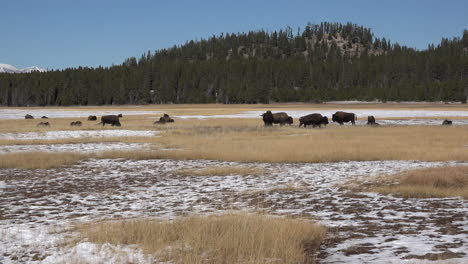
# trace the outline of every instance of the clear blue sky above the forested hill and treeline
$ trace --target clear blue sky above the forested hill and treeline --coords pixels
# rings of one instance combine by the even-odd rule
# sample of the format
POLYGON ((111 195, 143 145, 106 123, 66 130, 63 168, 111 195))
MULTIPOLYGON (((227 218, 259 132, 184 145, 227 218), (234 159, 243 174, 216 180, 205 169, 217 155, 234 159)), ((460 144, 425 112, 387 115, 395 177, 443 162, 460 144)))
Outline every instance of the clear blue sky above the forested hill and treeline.
POLYGON ((467 0, 0 0, 0 63, 17 68, 120 64, 221 32, 353 22, 425 49, 468 29, 467 0))

